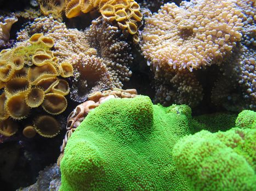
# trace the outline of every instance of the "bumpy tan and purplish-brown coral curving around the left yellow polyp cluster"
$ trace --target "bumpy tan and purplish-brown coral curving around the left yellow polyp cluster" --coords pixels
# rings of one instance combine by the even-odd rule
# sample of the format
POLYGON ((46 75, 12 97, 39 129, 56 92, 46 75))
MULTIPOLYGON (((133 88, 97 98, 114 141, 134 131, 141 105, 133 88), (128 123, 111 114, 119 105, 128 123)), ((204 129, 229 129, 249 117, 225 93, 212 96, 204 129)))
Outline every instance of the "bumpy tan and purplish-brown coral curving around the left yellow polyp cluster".
POLYGON ((94 91, 121 88, 122 82, 132 75, 130 44, 121 31, 103 17, 94 20, 85 32, 67 29, 53 17, 38 18, 18 33, 17 45, 26 45, 27 39, 35 33, 43 33, 54 40, 52 52, 61 62, 64 71, 61 76, 74 75, 70 97, 76 102, 84 102, 94 91))

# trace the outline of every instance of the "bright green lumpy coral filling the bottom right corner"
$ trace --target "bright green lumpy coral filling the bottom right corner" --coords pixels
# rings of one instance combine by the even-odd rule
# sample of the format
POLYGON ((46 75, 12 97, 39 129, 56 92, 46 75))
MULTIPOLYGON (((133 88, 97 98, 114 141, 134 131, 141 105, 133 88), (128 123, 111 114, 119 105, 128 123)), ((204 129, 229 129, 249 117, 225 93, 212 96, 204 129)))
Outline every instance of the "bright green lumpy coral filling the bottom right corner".
POLYGON ((243 124, 226 132, 202 130, 177 142, 173 159, 191 190, 256 190, 256 129, 251 121, 243 124))

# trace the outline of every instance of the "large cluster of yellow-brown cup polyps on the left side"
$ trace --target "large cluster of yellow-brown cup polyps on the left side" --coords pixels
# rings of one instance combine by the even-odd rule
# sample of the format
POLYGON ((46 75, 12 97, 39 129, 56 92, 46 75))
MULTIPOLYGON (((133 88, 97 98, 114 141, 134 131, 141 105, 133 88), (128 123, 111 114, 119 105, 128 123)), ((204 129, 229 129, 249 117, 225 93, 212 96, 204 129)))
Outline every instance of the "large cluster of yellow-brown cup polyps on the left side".
POLYGON ((58 63, 50 51, 54 45, 52 38, 34 34, 29 42, 30 46, 0 52, 0 85, 4 88, 0 95, 0 126, 4 120, 26 118, 32 108, 39 106, 53 115, 66 109, 64 96, 69 94, 70 87, 59 76, 72 76, 72 64, 58 63))

